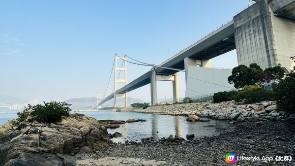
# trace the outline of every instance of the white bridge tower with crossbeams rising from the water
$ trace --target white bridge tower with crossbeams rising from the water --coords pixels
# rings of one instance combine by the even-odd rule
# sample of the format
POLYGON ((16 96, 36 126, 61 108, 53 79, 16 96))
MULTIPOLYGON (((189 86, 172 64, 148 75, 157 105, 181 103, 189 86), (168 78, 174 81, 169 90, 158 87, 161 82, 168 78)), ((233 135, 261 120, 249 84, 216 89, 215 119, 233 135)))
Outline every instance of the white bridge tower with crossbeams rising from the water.
POLYGON ((117 54, 115 54, 115 75, 114 75, 114 107, 117 106, 117 97, 118 98, 125 98, 125 107, 127 108, 128 102, 127 102, 127 93, 125 94, 117 94, 117 84, 123 83, 124 86, 127 84, 127 55, 125 55, 123 58, 119 57, 117 54), (124 67, 118 67, 117 61, 123 61, 124 67), (117 77, 117 71, 125 71, 124 73, 124 79, 119 79, 117 77))

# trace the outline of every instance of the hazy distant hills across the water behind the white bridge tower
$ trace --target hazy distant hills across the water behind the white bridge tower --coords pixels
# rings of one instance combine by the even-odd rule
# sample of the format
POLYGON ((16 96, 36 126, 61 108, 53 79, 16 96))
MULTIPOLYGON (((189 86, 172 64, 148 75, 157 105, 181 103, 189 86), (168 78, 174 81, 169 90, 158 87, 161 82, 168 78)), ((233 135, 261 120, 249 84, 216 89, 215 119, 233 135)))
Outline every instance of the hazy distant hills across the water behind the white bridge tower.
MULTIPOLYGON (((74 98, 66 100, 65 102, 72 104, 72 110, 82 110, 82 109, 96 109, 96 98, 74 98)), ((135 102, 146 102, 140 99, 133 99, 128 97, 128 105, 135 102)), ((117 98, 117 106, 125 105, 124 98, 117 98)), ((114 106, 114 99, 109 100, 102 104, 102 107, 111 107, 114 106)))

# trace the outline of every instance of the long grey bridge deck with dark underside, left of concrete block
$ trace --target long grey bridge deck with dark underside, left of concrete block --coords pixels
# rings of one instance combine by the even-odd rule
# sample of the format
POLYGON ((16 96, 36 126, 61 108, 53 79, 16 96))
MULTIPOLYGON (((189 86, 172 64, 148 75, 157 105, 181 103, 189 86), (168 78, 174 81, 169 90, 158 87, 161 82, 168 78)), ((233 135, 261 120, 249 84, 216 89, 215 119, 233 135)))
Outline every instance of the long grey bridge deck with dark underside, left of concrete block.
MULTIPOLYGON (((236 49, 235 36, 234 36, 234 21, 229 22, 213 33, 207 35, 198 42, 192 44, 188 48, 182 50, 172 58, 163 62, 159 66, 184 69, 184 58, 195 59, 212 59, 226 52, 236 49)), ((171 75, 176 73, 176 70, 156 67, 158 74, 171 75)), ((129 84, 117 90, 117 94, 124 94, 145 86, 150 83, 150 72, 143 74, 129 84)), ((114 98, 114 93, 103 99, 99 105, 114 98)))

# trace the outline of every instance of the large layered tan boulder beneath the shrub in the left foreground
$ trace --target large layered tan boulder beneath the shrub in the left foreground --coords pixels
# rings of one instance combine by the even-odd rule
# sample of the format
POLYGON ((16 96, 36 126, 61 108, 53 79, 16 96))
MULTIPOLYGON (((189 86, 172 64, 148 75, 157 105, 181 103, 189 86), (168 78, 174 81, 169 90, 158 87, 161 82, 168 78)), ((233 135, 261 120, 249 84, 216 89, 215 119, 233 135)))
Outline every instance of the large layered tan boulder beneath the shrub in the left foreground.
POLYGON ((57 123, 9 121, 0 126, 0 166, 68 166, 85 151, 109 146, 106 128, 88 116, 57 123))

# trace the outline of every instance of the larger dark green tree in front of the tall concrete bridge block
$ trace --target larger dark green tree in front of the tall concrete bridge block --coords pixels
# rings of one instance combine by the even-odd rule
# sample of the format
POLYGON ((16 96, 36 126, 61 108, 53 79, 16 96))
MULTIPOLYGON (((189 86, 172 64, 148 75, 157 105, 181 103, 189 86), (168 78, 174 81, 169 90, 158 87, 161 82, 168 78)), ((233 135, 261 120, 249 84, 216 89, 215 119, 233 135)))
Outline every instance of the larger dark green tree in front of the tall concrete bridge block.
POLYGON ((242 88, 245 85, 255 85, 255 75, 262 72, 263 69, 257 64, 250 64, 249 67, 239 65, 233 68, 232 75, 229 76, 228 82, 234 84, 236 89, 242 88))

